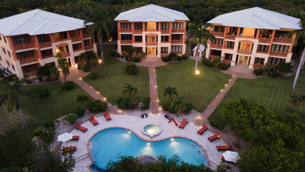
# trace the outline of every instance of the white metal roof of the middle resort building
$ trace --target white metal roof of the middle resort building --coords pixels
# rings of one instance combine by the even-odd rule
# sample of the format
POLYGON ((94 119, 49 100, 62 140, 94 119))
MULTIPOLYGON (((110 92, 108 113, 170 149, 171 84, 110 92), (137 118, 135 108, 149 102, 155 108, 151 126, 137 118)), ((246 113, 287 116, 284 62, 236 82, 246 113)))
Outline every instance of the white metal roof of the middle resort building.
POLYGON ((153 4, 120 13, 114 19, 114 21, 117 20, 128 20, 129 22, 189 21, 188 17, 182 12, 153 4))

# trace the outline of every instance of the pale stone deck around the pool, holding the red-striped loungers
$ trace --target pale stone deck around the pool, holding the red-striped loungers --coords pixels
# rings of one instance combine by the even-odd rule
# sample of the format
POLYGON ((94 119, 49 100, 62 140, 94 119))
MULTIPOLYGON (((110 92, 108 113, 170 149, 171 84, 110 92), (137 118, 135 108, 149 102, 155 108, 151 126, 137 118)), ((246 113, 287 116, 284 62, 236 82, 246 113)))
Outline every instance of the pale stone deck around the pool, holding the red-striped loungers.
MULTIPOLYGON (((197 134, 197 131, 200 129, 199 126, 192 125, 188 123, 185 125, 184 129, 175 126, 173 122, 168 123, 168 119, 164 118, 164 115, 149 114, 147 118, 141 118, 132 115, 110 115, 111 120, 106 122, 105 117, 101 116, 96 118, 99 122, 99 125, 93 126, 90 121, 82 123, 81 126, 88 128, 87 131, 83 133, 81 130, 73 130, 71 134, 79 135, 79 140, 67 141, 67 146, 76 146, 77 151, 74 152, 74 157, 76 160, 75 163, 75 172, 84 172, 89 171, 87 166, 92 164, 90 156, 88 154, 87 146, 84 145, 84 141, 89 141, 89 139, 100 130, 109 127, 122 127, 134 131, 138 137, 148 140, 148 141, 157 141, 162 140, 167 137, 186 137, 191 140, 199 143, 204 148, 207 149, 206 157, 208 160, 209 167, 214 169, 217 164, 221 162, 221 154, 225 151, 218 152, 216 149, 217 145, 226 145, 222 139, 216 139, 213 142, 210 142, 207 137, 214 135, 214 133, 209 130, 205 131, 202 135, 197 134), (162 127, 162 132, 159 136, 154 138, 149 138, 142 133, 142 128, 149 124, 159 124, 162 127)), ((180 124, 182 121, 178 120, 177 123, 180 124)), ((63 146, 66 146, 66 143, 63 143, 63 146)))

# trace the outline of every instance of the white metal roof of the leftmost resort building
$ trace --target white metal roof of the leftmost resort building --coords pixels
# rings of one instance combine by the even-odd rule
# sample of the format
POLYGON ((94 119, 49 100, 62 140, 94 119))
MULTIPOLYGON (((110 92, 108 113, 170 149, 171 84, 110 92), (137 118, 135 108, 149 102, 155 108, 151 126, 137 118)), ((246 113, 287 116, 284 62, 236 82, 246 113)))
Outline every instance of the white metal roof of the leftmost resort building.
POLYGON ((4 36, 49 34, 83 27, 85 27, 84 20, 40 9, 34 9, 0 20, 0 33, 4 36))

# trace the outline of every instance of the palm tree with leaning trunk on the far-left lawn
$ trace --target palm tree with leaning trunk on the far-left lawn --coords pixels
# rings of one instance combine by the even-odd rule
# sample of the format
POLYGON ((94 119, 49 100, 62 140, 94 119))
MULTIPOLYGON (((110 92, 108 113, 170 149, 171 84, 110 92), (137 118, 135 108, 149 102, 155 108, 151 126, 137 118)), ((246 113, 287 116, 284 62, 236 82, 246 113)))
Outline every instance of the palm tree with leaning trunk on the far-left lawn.
POLYGON ((1 81, 1 88, 3 88, 6 93, 2 94, 0 96, 0 105, 2 105, 6 100, 6 112, 13 112, 13 110, 19 110, 21 119, 22 119, 22 125, 23 127, 26 127, 27 124, 24 121, 23 113, 20 107, 20 96, 27 96, 32 99, 35 99, 35 95, 30 90, 23 90, 21 89, 21 86, 23 85, 24 80, 16 79, 12 84, 9 84, 9 82, 2 80, 1 81))

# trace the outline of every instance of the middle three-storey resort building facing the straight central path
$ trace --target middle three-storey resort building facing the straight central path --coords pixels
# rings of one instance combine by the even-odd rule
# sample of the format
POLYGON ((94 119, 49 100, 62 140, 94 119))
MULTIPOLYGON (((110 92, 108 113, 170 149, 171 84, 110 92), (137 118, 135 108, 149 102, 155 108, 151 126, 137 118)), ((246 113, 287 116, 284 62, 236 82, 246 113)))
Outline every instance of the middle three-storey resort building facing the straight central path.
POLYGON ((188 17, 179 11, 158 5, 146 5, 120 13, 115 19, 118 29, 118 52, 132 45, 147 57, 185 53, 185 29, 188 17))

